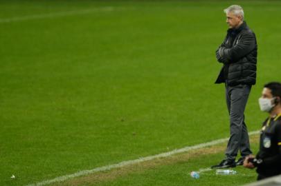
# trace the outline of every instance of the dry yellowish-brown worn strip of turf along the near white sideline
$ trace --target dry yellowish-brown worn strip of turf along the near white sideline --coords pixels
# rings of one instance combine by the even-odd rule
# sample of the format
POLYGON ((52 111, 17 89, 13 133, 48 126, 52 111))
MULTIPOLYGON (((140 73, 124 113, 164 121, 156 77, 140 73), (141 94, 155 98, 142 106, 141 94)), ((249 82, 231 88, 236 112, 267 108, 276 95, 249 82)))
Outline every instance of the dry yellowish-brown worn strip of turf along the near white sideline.
MULTIPOLYGON (((258 143, 259 135, 251 136, 251 143, 258 143)), ((226 149, 226 143, 222 143, 219 145, 214 145, 210 147, 205 147, 202 149, 194 149, 189 152, 185 152, 182 154, 176 154, 173 156, 165 157, 165 158, 156 158, 152 161, 145 161, 142 163, 136 163, 134 165, 127 165, 125 167, 120 167, 116 169, 111 169, 106 172, 98 172, 89 174, 87 176, 81 176, 78 178, 72 178, 70 180, 66 180, 64 182, 55 183, 54 185, 98 185, 99 183, 114 180, 119 178, 120 176, 127 176, 132 173, 141 173, 146 171, 147 169, 154 169, 156 167, 160 167, 163 165, 172 165, 175 163, 185 163, 191 158, 200 158, 201 156, 208 154, 217 154, 224 152, 226 149)), ((207 165, 208 166, 208 165, 207 165)))

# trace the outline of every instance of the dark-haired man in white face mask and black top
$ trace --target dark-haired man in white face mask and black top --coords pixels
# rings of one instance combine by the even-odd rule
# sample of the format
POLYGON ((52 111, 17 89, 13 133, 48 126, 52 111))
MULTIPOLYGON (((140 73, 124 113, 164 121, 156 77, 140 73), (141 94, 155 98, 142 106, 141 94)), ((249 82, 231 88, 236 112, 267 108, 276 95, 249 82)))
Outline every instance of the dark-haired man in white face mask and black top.
POLYGON ((281 83, 264 85, 259 103, 269 117, 262 124, 259 152, 244 160, 244 167, 257 167, 257 180, 281 174, 281 83))

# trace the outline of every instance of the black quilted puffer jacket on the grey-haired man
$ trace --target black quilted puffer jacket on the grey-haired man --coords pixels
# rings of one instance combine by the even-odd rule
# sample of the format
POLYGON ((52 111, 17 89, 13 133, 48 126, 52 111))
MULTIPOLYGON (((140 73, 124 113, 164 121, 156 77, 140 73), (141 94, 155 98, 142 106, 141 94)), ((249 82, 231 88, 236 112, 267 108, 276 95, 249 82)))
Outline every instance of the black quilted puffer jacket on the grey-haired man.
POLYGON ((257 40, 244 21, 237 29, 228 29, 226 39, 216 51, 224 63, 215 83, 255 85, 257 76, 257 40))

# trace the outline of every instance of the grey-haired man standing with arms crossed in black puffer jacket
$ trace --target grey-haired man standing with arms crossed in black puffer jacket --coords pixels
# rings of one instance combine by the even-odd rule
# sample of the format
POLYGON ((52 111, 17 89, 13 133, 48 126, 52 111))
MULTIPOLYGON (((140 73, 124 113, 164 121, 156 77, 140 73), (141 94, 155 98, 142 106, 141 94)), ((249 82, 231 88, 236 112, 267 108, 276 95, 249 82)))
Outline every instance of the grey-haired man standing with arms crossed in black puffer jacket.
POLYGON ((226 147, 226 157, 211 168, 226 168, 243 165, 244 158, 252 154, 248 131, 244 121, 244 110, 255 85, 257 71, 257 41, 255 33, 244 21, 241 6, 233 5, 226 13, 226 38, 216 51, 217 61, 223 64, 215 83, 225 83, 226 105, 230 116, 230 138, 226 147), (235 162, 238 152, 241 158, 235 162))

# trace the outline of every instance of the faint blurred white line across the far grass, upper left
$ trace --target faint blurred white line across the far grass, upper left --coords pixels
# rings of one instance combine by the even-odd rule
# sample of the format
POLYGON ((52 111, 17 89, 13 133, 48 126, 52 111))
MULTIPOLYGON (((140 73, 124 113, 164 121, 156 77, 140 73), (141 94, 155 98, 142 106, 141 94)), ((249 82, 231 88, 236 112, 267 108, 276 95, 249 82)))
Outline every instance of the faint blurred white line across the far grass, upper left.
POLYGON ((73 10, 68 12, 53 12, 48 14, 35 14, 35 15, 26 15, 23 17, 11 17, 11 18, 2 18, 0 19, 0 23, 10 23, 16 21, 27 21, 30 19, 44 19, 44 18, 53 18, 53 17, 65 17, 76 14, 90 14, 92 12, 111 12, 113 11, 113 7, 102 7, 102 8, 91 8, 88 10, 73 10))

